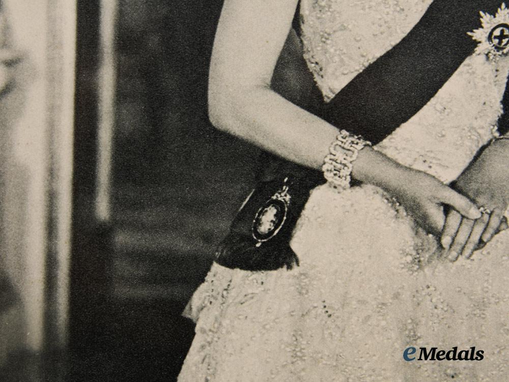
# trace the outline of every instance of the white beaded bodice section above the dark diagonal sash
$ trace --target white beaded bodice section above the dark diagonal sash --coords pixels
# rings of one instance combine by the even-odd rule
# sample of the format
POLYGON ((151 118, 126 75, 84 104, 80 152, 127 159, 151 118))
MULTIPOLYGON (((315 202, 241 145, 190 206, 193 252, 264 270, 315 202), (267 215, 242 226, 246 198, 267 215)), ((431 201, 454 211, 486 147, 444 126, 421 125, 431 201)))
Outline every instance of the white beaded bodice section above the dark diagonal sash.
POLYGON ((326 100, 330 100, 384 51, 397 44, 431 1, 423 0, 417 4, 414 1, 411 5, 409 2, 402 3, 400 0, 315 0, 301 3, 304 57, 326 100), (412 8, 414 17, 408 17, 405 7, 412 8), (359 8, 367 17, 373 15, 367 27, 363 20, 357 18, 359 8), (345 41, 352 41, 354 48, 345 46, 345 41))

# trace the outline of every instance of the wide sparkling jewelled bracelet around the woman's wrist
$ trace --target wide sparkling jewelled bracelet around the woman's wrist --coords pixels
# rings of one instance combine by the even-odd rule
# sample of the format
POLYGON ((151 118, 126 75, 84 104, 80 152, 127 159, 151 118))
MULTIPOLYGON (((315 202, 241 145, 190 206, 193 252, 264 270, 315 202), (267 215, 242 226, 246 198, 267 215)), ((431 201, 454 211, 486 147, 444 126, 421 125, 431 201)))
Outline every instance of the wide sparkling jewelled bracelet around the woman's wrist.
POLYGON ((350 187, 352 162, 364 146, 371 146, 371 143, 346 130, 340 131, 330 145, 329 154, 325 156, 322 166, 323 175, 329 185, 335 189, 350 187))

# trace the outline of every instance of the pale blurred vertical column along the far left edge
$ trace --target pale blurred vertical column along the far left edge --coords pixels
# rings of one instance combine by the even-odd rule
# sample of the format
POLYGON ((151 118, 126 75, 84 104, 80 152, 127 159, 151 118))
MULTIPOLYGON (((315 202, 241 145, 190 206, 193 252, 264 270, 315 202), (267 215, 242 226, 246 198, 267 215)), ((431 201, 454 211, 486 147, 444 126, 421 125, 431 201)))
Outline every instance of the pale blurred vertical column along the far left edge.
POLYGON ((60 0, 1 4, 0 366, 66 342, 75 14, 60 0))

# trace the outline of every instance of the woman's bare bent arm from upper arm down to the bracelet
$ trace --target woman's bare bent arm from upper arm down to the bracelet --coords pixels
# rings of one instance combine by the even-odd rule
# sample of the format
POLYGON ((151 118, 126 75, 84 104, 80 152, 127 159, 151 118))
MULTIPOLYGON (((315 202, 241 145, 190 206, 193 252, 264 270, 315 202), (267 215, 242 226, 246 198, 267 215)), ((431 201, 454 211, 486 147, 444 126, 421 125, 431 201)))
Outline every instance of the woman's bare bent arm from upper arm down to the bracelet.
POLYGON ((296 0, 226 0, 209 80, 212 123, 301 165, 319 168, 337 129, 270 89, 296 0))

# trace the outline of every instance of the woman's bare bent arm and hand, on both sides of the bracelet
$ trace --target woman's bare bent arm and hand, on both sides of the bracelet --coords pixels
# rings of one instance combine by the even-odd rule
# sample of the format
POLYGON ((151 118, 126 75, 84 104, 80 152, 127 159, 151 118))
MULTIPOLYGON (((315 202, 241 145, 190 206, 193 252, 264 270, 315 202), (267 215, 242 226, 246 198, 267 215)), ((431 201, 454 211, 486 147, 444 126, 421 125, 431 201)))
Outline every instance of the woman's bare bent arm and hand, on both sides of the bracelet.
MULTIPOLYGON (((296 6, 297 0, 224 1, 210 67, 209 116, 220 130, 319 169, 337 129, 269 87, 296 6)), ((478 216, 471 202, 433 177, 371 148, 359 152, 352 175, 386 189, 404 204, 408 201, 407 208, 425 215, 433 231, 443 225, 442 203, 471 219, 478 216)))

